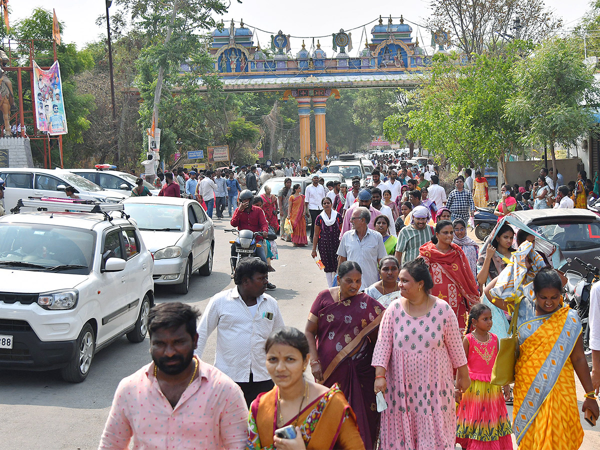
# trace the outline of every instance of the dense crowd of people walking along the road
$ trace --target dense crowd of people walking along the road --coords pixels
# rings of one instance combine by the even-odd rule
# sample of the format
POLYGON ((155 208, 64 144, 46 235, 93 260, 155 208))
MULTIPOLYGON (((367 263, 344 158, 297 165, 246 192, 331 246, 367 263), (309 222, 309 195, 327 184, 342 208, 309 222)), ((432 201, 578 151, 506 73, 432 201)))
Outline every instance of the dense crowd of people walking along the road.
MULTIPOLYGON (((327 287, 304 332, 286 327, 265 293, 266 255, 241 259, 236 287, 213 296, 199 320, 189 305, 152 308, 152 362, 119 384, 101 449, 132 438, 134 448, 512 449, 513 434, 523 449, 581 445, 574 373, 586 391, 581 410, 595 420, 600 367, 590 376, 578 314, 535 248, 542 237, 500 218, 512 206, 503 194, 479 248, 467 235, 475 206, 488 202, 479 170, 473 178, 465 169, 446 193, 433 161, 421 170, 375 162, 362 188, 355 178, 324 185, 325 167, 302 168, 305 193, 289 178, 298 167, 285 164, 284 187, 265 189, 260 207, 257 167, 229 173, 223 191, 212 187, 221 177, 205 173, 227 197, 235 181, 233 226, 265 237, 271 226, 296 247, 310 240, 327 287), (514 379, 499 383, 500 341, 517 327, 514 379), (215 329, 213 367, 201 358, 215 329)), ((546 186, 540 176, 529 192, 546 186)), ((575 194, 578 186, 590 194, 585 181, 575 194)), ((208 211, 210 194, 200 192, 208 211)), ((590 343, 600 341, 594 326, 590 343)))

